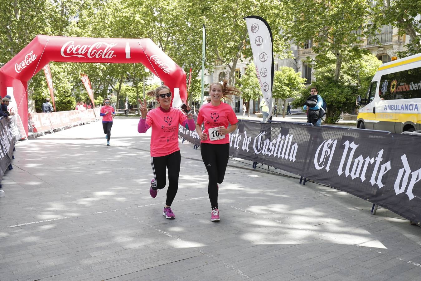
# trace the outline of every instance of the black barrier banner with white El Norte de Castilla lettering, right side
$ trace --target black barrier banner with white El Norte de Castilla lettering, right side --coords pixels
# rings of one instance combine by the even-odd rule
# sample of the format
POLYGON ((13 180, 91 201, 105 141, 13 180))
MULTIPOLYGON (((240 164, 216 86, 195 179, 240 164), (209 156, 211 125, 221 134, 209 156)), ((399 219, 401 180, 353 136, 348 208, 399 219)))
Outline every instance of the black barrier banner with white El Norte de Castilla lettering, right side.
MULTIPOLYGON (((239 120, 229 154, 298 174, 421 222, 419 136, 239 120)), ((186 132, 184 132, 186 131, 186 132)), ((195 131, 180 136, 199 145, 195 131)))

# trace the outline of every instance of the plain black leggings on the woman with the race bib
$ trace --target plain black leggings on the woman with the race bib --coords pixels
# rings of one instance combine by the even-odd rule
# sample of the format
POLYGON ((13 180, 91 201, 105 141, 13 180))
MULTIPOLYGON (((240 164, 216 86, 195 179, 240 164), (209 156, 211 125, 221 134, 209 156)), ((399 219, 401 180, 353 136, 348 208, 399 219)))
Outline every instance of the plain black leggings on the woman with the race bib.
POLYGON ((200 153, 209 175, 208 194, 210 206, 218 209, 218 183, 222 183, 225 177, 226 165, 229 158, 229 144, 213 145, 200 144, 200 153))

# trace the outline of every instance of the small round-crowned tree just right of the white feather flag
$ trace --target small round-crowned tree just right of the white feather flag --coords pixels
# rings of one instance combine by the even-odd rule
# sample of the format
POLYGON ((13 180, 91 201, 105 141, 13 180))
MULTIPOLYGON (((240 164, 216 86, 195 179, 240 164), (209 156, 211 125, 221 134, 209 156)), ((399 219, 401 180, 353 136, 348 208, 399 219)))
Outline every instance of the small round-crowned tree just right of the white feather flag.
MULTIPOLYGON (((296 98, 304 88, 305 78, 301 78, 301 72, 295 72, 292 67, 280 67, 274 72, 272 96, 274 99, 282 99, 283 105, 287 108, 287 99, 296 98)), ((282 112, 285 118, 285 110, 282 112)))

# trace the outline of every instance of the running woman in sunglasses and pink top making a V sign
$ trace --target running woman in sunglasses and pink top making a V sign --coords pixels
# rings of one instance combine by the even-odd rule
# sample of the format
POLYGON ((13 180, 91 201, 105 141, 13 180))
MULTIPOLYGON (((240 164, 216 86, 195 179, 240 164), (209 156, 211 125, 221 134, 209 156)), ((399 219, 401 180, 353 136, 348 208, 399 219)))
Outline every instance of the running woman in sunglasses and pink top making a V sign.
MULTIPOLYGON (((139 133, 145 133, 152 127, 151 136, 151 165, 154 177, 151 180, 149 194, 152 198, 157 196, 158 190, 166 185, 166 170, 168 169, 168 189, 163 216, 174 219, 176 216, 171 210, 171 204, 179 185, 181 155, 179 148, 179 124, 190 131, 195 130, 195 121, 192 115, 186 116, 181 110, 171 107, 171 91, 167 86, 160 86, 149 91, 148 96, 157 99, 159 107, 148 112, 146 99, 140 104, 141 118, 137 126, 139 133)), ((187 106, 187 110, 190 107, 187 106)))

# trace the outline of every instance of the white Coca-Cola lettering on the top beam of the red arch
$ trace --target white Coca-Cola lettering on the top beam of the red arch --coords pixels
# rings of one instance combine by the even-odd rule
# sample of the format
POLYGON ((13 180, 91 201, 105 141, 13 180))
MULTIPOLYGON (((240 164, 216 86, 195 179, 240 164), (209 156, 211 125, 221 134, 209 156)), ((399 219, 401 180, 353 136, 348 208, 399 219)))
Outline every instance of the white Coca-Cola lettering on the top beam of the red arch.
POLYGON ((112 47, 117 43, 96 42, 92 45, 75 45, 75 41, 68 41, 61 47, 60 54, 64 57, 77 56, 79 58, 111 59, 114 54, 112 47))

